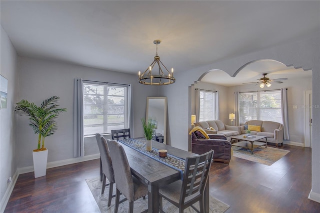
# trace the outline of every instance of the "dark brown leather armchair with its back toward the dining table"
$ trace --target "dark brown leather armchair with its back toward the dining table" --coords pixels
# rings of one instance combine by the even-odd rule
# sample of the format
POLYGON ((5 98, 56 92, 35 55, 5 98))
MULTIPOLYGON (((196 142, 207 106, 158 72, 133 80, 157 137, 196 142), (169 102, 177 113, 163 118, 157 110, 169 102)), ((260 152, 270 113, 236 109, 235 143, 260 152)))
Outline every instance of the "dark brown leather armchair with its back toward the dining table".
POLYGON ((226 140, 224 135, 208 134, 210 139, 205 139, 204 136, 199 136, 199 134, 196 133, 197 132, 191 133, 193 153, 200 155, 214 150, 213 161, 221 161, 224 164, 229 164, 231 159, 231 143, 226 140))

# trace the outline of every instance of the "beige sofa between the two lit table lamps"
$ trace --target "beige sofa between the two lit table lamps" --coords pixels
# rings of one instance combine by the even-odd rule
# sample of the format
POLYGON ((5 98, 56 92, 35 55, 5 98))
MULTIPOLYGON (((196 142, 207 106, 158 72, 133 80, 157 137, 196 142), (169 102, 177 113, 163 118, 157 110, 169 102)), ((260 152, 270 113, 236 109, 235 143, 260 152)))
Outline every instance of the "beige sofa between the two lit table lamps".
POLYGON ((199 121, 194 123, 194 126, 201 127, 207 134, 222 134, 227 140, 230 140, 231 136, 240 134, 239 126, 229 126, 220 120, 199 121))

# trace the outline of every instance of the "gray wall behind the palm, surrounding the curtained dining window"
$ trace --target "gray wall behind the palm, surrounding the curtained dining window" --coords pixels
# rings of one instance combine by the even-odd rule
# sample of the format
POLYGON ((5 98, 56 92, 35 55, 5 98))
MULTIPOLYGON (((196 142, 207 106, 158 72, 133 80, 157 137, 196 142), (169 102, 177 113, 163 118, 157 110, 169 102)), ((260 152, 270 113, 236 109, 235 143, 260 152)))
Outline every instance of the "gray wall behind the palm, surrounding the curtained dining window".
MULTIPOLYGON (((148 87, 137 83, 136 75, 118 73, 89 67, 63 64, 31 58, 20 58, 19 99, 40 104, 43 99, 52 95, 60 96, 60 107, 67 108, 58 117, 58 130, 46 138, 45 147, 49 150, 48 162, 73 158, 73 81, 74 78, 84 80, 105 81, 112 83, 132 84, 133 97, 133 137, 142 137, 140 118, 145 117, 146 97, 157 96, 157 87, 148 87)), ((32 165, 32 150, 36 148, 37 137, 27 126, 27 118, 17 117, 16 131, 17 167, 32 165)), ((92 146, 96 146, 94 138, 85 138, 92 146)), ((97 151, 96 147, 89 152, 97 151)), ((97 153, 97 152, 96 152, 97 153)))

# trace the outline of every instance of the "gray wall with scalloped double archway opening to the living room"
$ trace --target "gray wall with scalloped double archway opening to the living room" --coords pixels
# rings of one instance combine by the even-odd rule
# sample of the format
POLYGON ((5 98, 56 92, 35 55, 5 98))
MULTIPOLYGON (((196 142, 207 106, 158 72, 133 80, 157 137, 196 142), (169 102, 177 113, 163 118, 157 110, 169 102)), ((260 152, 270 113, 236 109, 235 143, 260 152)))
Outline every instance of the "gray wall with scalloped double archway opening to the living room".
MULTIPOLYGON (((286 65, 294 64, 301 66, 304 69, 312 68, 312 99, 313 105, 320 106, 320 87, 319 87, 319 29, 313 32, 308 32, 294 41, 288 41, 282 45, 277 45, 271 48, 262 49, 250 54, 241 55, 216 62, 213 64, 205 65, 191 70, 176 70, 176 82, 162 88, 161 95, 168 98, 168 130, 167 140, 174 147, 184 150, 188 149, 188 129, 190 128, 191 116, 191 101, 189 100, 189 87, 194 83, 203 73, 220 69, 227 72, 232 76, 237 69, 249 61, 256 59, 274 59, 286 65)), ((315 140, 320 138, 320 109, 314 108, 313 116, 313 144, 312 144, 312 193, 311 197, 316 197, 320 201, 320 143, 315 140)), ((225 115, 226 116, 226 115, 225 115)), ((222 118, 223 119, 223 118, 222 118)))

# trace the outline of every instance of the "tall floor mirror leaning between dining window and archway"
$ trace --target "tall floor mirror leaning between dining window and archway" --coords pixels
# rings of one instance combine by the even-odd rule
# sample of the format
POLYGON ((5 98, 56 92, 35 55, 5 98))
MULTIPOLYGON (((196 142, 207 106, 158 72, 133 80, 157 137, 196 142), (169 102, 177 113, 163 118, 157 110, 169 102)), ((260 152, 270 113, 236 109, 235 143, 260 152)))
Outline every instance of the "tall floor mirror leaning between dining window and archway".
POLYGON ((166 97, 146 97, 145 118, 156 121, 153 140, 166 144, 166 97))

